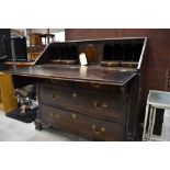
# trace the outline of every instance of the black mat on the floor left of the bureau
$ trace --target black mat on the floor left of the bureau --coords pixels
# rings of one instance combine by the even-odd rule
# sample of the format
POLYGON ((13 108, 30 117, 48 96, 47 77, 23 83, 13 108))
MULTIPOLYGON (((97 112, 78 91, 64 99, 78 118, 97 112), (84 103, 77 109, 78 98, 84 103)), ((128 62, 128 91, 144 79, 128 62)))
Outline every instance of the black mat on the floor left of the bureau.
POLYGON ((8 117, 24 122, 24 123, 32 123, 36 118, 36 111, 37 110, 30 110, 22 113, 20 110, 12 111, 7 113, 8 117))

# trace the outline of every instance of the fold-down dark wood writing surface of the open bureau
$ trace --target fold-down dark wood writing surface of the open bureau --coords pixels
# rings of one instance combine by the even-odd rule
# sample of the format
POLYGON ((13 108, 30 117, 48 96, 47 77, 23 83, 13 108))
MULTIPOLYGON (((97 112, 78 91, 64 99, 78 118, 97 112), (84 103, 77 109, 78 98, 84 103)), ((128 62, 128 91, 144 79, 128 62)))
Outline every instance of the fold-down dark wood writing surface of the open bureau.
POLYGON ((99 82, 123 86, 136 75, 136 69, 46 64, 10 70, 9 72, 18 76, 37 77, 45 79, 99 82))

